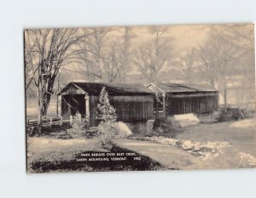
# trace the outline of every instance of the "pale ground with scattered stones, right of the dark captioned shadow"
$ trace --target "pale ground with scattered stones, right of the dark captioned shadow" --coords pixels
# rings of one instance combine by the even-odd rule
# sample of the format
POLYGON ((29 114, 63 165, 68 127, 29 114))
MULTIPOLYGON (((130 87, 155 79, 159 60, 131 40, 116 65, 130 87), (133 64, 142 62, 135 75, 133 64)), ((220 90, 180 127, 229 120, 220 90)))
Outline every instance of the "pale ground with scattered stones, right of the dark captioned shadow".
POLYGON ((166 168, 256 167, 255 128, 254 117, 237 122, 215 122, 186 127, 175 139, 163 136, 133 137, 115 142, 152 157, 166 168))

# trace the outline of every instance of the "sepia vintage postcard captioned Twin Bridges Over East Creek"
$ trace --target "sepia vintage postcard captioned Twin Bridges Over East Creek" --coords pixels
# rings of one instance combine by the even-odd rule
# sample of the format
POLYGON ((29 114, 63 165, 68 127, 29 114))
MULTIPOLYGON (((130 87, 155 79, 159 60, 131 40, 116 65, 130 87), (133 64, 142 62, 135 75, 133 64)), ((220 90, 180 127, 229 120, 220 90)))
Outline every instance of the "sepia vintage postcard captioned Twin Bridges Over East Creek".
POLYGON ((256 167, 254 25, 24 30, 27 173, 256 167))

